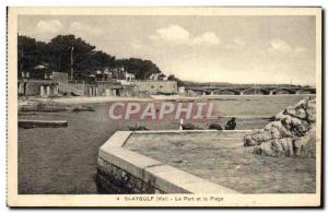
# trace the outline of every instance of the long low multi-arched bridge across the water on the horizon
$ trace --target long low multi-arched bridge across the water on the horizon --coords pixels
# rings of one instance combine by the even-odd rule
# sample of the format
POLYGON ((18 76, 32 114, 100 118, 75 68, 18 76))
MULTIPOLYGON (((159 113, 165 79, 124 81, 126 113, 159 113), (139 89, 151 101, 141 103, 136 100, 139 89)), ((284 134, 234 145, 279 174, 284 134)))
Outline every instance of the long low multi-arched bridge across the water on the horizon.
POLYGON ((186 87, 185 91, 198 95, 281 95, 281 94, 316 94, 315 87, 186 87))

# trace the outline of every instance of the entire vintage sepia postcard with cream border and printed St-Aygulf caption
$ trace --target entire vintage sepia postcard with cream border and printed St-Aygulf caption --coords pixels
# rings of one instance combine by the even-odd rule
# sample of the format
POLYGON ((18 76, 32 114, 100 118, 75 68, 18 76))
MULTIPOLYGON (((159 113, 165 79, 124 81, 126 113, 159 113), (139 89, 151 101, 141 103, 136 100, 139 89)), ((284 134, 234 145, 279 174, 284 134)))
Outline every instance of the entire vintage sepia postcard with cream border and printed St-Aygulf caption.
POLYGON ((8 8, 9 206, 320 206, 321 8, 8 8))

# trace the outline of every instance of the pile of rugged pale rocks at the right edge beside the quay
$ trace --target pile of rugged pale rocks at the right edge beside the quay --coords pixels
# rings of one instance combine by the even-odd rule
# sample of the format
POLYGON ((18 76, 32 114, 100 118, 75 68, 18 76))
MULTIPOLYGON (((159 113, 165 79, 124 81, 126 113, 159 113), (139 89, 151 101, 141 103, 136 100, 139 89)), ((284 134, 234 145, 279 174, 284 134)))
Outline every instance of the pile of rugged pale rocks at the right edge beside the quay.
POLYGON ((246 135, 244 145, 259 155, 315 157, 316 100, 286 107, 263 129, 246 135))

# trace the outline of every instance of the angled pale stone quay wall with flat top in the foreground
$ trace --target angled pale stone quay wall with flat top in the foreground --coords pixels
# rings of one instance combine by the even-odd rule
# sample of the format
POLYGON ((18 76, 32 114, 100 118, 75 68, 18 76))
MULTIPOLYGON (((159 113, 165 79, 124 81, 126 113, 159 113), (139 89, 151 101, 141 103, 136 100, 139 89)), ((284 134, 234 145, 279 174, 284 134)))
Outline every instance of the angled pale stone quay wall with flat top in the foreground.
MULTIPOLYGON (((216 130, 147 131, 187 133, 216 130)), ((131 134, 118 131, 99 147, 96 184, 101 193, 237 193, 124 147, 131 134)))

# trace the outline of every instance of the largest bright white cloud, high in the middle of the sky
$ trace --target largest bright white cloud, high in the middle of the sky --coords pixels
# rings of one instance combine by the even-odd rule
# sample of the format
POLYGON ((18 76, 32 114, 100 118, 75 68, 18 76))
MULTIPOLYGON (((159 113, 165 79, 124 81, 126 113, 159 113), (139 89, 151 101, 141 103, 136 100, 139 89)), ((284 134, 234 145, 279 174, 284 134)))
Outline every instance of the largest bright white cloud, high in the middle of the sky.
POLYGON ((206 32, 199 36, 192 36, 187 29, 179 25, 169 25, 164 28, 156 29, 150 38, 154 42, 166 42, 179 45, 220 45, 221 39, 213 32, 206 32))

